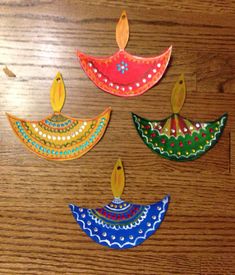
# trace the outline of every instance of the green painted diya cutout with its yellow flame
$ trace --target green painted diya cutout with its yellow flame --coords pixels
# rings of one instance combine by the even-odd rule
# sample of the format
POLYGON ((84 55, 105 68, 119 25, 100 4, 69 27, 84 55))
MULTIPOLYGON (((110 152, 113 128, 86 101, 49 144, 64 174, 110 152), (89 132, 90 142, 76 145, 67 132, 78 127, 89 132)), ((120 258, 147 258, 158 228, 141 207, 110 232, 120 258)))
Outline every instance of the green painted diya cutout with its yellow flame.
POLYGON ((171 96, 171 116, 150 121, 132 114, 144 143, 153 152, 170 160, 194 160, 205 154, 219 140, 227 121, 227 114, 212 122, 194 122, 182 117, 179 112, 185 95, 186 87, 181 75, 171 96))

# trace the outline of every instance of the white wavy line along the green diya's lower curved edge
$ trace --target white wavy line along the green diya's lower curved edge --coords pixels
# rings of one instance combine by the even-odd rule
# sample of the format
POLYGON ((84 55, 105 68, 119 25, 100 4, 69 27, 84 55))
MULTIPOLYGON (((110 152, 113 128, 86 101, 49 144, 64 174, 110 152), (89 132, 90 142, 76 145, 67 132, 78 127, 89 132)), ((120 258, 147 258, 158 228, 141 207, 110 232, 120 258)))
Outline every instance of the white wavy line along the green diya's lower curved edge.
POLYGON ((212 144, 212 141, 216 140, 217 135, 220 134, 220 132, 221 132, 221 131, 220 131, 220 130, 221 130, 221 127, 224 126, 224 120, 226 119, 226 117, 223 117, 223 118, 222 118, 222 120, 221 120, 221 124, 222 124, 222 125, 220 126, 220 130, 214 134, 214 138, 211 139, 210 142, 204 146, 204 149, 203 149, 203 150, 198 150, 196 153, 191 153, 191 154, 189 154, 188 156, 185 156, 185 155, 183 155, 183 156, 178 156, 178 155, 176 155, 176 154, 169 154, 167 151, 161 151, 161 150, 159 149, 159 147, 155 147, 151 142, 149 142, 148 137, 145 136, 145 134, 143 133, 142 129, 140 128, 140 123, 138 122, 137 116, 134 115, 134 117, 135 117, 135 122, 138 124, 138 130, 141 131, 141 133, 142 133, 142 137, 144 137, 144 138, 146 139, 146 142, 147 142, 154 150, 157 149, 157 150, 158 150, 158 153, 160 153, 160 154, 166 153, 169 157, 174 156, 174 157, 176 157, 177 159, 180 159, 180 158, 181 158, 181 159, 182 159, 182 158, 189 158, 189 157, 191 157, 191 156, 197 156, 198 152, 205 153, 207 147, 210 147, 211 144, 212 144))

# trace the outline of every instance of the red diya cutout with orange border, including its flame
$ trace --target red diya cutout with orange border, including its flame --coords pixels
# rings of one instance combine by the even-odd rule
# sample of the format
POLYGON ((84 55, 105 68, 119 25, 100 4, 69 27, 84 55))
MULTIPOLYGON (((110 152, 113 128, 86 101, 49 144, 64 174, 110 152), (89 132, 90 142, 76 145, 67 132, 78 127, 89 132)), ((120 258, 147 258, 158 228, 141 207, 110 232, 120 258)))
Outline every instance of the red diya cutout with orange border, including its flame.
POLYGON ((172 47, 156 57, 131 55, 125 51, 128 39, 128 19, 123 11, 116 27, 119 50, 114 55, 100 58, 77 51, 88 77, 100 89, 116 96, 138 96, 146 92, 161 79, 171 56, 172 47))

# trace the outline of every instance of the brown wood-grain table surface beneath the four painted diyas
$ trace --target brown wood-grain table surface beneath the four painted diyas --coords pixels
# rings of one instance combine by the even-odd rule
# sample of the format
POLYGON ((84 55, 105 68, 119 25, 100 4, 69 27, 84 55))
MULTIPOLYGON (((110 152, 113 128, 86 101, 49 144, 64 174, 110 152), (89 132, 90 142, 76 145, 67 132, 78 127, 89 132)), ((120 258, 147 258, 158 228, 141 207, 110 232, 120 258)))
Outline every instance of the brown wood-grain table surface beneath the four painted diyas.
POLYGON ((166 0, 0 1, 0 274, 235 274, 235 3, 166 0), (127 50, 153 56, 173 45, 158 85, 135 98, 99 90, 76 58, 117 50, 115 27, 127 10, 127 50), (16 74, 7 77, 4 65, 16 74), (38 158, 13 134, 5 112, 28 119, 51 113, 49 90, 60 71, 64 113, 93 117, 112 106, 109 127, 81 159, 38 158), (153 154, 130 112, 170 114, 170 95, 185 73, 182 115, 214 120, 229 113, 219 143, 193 162, 153 154), (112 199, 110 175, 121 157, 123 199, 148 204, 171 195, 160 229, 141 246, 116 251, 91 241, 69 203, 99 207, 112 199))

